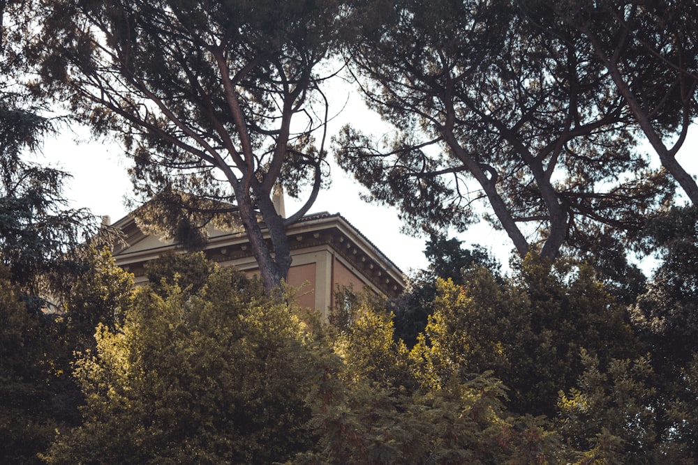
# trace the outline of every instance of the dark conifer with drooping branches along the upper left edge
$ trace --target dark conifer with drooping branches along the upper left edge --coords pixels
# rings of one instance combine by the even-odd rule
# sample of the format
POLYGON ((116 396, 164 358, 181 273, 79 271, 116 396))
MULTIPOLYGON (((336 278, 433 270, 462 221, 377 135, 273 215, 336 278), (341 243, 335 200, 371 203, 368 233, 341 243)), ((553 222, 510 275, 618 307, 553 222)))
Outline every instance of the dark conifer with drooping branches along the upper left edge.
POLYGON ((27 1, 0 5, 0 264, 37 296, 53 270, 67 272, 75 258, 69 252, 97 229, 89 212, 68 208, 62 187, 69 175, 32 160, 58 121, 42 116, 47 105, 22 80, 29 66, 23 45, 31 38, 27 8, 27 1))

